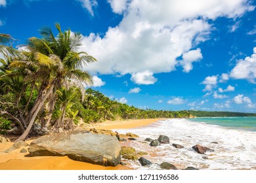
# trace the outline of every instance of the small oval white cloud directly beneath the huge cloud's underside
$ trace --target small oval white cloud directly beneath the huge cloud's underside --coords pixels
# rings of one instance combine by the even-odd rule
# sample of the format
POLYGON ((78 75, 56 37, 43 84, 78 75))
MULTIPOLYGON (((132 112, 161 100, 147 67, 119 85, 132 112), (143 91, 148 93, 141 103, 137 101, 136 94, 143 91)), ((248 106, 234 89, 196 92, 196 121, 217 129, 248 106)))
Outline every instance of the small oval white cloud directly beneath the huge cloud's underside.
POLYGON ((136 84, 154 84, 158 81, 157 78, 153 76, 153 73, 149 71, 144 71, 141 73, 134 73, 131 75, 131 81, 135 82, 136 84))

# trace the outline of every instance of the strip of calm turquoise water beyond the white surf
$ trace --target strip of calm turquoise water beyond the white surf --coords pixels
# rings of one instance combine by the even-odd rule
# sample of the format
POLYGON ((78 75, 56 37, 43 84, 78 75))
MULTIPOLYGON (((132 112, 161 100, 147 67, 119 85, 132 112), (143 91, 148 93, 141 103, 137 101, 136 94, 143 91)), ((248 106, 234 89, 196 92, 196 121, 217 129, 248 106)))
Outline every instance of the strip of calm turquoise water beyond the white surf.
POLYGON ((256 117, 218 117, 218 118, 193 118, 192 122, 203 122, 205 124, 219 125, 231 129, 243 129, 256 131, 256 117))

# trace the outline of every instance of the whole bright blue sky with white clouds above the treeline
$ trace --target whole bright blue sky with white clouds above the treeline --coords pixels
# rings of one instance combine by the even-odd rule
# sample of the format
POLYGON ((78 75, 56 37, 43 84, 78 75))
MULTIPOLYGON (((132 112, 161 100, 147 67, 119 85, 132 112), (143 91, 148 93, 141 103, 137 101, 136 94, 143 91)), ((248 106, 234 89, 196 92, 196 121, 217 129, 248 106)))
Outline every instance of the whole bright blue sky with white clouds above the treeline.
POLYGON ((256 112, 256 2, 0 0, 17 49, 59 22, 83 35, 93 89, 158 110, 256 112))

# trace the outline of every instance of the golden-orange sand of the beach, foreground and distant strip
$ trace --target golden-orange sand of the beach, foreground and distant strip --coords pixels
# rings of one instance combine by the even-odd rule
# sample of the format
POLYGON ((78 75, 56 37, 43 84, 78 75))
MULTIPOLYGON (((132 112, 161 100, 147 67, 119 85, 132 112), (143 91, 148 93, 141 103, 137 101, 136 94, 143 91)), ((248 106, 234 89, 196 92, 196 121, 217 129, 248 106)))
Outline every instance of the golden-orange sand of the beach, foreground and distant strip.
MULTIPOLYGON (((88 127, 95 129, 130 129, 133 127, 142 127, 157 122, 160 119, 146 120, 117 120, 107 121, 98 124, 90 124, 88 127)), ((26 141, 28 144, 33 140, 26 141)), ((20 153, 22 148, 18 148, 9 153, 3 152, 12 146, 13 142, 7 144, 0 143, 0 170, 114 170, 129 169, 129 167, 117 165, 117 167, 103 167, 74 161, 67 156, 41 156, 30 157, 29 153, 20 153)), ((28 150, 28 146, 24 147, 28 150)))

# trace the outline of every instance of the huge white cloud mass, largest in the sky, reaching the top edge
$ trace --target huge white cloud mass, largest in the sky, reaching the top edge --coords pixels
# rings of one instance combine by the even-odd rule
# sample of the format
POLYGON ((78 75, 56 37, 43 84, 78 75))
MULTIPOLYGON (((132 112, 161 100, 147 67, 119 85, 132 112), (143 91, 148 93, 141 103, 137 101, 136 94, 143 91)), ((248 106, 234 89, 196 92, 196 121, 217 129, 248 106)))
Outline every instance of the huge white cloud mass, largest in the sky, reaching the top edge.
POLYGON ((125 13, 119 25, 109 27, 103 36, 91 33, 83 38, 81 50, 98 59, 86 69, 94 74, 130 74, 133 79, 148 72, 150 84, 156 82, 154 74, 175 71, 177 65, 184 72, 192 70, 192 63, 202 59, 200 48, 194 48, 209 39, 209 20, 236 18, 253 10, 249 1, 242 0, 108 2, 114 12, 125 13))

